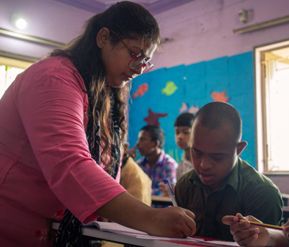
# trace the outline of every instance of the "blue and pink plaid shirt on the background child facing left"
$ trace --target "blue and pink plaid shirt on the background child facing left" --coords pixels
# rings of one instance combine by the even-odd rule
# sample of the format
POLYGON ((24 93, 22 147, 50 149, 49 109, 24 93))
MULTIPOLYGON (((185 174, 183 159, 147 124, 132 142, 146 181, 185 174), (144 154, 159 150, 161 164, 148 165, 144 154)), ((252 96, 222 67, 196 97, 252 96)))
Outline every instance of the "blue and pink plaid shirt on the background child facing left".
POLYGON ((152 179, 152 195, 162 195, 159 183, 164 181, 164 179, 176 185, 176 169, 178 163, 170 155, 167 155, 164 150, 161 150, 161 155, 159 155, 159 159, 156 160, 153 169, 149 167, 146 157, 138 159, 137 164, 139 164, 149 178, 152 179))

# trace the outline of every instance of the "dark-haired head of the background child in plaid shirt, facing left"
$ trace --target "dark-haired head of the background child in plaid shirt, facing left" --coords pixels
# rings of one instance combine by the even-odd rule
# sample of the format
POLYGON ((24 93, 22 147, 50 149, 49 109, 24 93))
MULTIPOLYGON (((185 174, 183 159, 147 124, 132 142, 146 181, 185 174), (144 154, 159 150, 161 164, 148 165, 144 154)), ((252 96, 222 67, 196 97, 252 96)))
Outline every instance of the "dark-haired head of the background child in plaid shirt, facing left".
POLYGON ((147 125, 142 127, 138 134, 137 148, 140 155, 147 156, 157 149, 164 148, 165 135, 159 126, 147 125))

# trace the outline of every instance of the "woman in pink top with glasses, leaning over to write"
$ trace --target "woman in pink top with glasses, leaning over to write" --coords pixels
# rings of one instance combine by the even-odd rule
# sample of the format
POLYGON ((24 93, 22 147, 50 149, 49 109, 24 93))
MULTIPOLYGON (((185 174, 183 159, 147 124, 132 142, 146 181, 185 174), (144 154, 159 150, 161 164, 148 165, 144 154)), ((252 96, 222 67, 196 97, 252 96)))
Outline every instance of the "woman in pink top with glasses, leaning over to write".
POLYGON ((49 223, 66 208, 82 223, 101 215, 159 236, 195 232, 192 212, 153 209, 118 183, 126 84, 151 67, 157 44, 159 27, 149 11, 128 1, 113 4, 6 90, 0 246, 52 246, 49 223))

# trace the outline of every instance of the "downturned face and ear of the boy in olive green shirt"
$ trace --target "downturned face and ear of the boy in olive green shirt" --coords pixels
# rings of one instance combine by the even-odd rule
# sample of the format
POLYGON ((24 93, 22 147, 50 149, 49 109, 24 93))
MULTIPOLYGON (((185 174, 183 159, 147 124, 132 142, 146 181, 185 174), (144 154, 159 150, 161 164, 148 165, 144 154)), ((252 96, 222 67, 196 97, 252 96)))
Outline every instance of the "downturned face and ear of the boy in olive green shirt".
POLYGON ((238 143, 230 124, 210 130, 198 119, 192 126, 191 158, 195 171, 204 185, 218 189, 235 167, 237 156, 247 143, 238 143))

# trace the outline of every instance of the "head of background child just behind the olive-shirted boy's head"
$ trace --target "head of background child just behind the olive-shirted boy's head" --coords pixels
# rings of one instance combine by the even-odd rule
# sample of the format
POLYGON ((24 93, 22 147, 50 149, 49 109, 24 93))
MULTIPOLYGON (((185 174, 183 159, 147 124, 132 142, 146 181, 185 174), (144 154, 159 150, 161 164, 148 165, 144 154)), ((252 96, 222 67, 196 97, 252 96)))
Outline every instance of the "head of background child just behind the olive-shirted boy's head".
POLYGON ((174 123, 175 140, 180 149, 187 150, 190 148, 190 132, 194 119, 195 115, 188 112, 182 113, 176 118, 174 123))

